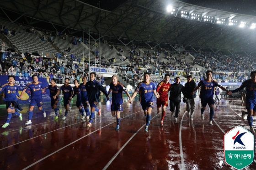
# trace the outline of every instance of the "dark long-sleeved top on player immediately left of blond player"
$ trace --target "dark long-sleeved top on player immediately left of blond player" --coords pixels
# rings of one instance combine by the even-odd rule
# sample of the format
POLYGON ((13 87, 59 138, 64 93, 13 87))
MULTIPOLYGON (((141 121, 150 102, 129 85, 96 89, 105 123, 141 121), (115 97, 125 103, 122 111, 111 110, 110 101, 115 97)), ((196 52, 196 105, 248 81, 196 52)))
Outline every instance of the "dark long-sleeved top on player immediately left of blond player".
POLYGON ((99 102, 101 92, 107 96, 107 90, 96 80, 89 81, 85 84, 89 102, 99 102))

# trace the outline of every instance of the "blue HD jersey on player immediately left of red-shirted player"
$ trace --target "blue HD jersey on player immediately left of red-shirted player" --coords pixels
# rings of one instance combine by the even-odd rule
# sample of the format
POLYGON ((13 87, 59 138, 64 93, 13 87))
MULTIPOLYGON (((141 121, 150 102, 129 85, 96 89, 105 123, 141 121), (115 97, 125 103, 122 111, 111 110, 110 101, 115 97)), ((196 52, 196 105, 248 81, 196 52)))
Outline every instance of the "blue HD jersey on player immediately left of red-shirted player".
POLYGON ((144 81, 140 82, 136 88, 136 91, 139 92, 140 103, 153 102, 153 90, 155 90, 153 82, 149 82, 149 84, 146 84, 144 81))

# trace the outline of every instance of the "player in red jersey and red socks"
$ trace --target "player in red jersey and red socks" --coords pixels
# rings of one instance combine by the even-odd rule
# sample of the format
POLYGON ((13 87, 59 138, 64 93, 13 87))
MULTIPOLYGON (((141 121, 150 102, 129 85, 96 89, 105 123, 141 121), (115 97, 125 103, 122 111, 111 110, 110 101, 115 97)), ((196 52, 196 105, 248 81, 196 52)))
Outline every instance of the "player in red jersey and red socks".
POLYGON ((165 74, 165 80, 161 81, 156 88, 156 93, 159 94, 159 98, 156 99, 157 105, 157 114, 161 111, 161 106, 163 108, 162 111, 162 119, 161 126, 163 126, 163 121, 165 118, 165 108, 168 107, 168 92, 170 91, 171 83, 169 82, 171 75, 165 74))

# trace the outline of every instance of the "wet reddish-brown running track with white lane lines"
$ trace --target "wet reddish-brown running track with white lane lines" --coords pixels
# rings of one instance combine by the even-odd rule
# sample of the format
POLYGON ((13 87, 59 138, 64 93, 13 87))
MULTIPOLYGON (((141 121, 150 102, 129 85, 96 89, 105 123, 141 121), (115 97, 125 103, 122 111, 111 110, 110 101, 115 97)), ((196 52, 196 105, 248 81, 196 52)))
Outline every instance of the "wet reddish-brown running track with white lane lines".
MULTIPOLYGON (((46 118, 35 109, 32 125, 25 126, 29 106, 24 105, 22 121, 13 115, 10 125, 0 128, 0 170, 233 170, 224 161, 223 136, 237 125, 249 128, 240 117, 245 107, 238 99, 221 100, 210 126, 209 108, 202 120, 198 101, 193 120, 187 118, 186 104, 181 102, 178 121, 167 109, 163 127, 155 107, 148 133, 139 101, 123 104, 118 131, 105 98, 98 105, 101 116, 90 129, 74 105, 65 121, 62 115, 54 120, 50 103, 43 105, 46 118)), ((7 113, 0 109, 2 126, 7 113)), ((256 170, 255 160, 245 170, 256 170)))

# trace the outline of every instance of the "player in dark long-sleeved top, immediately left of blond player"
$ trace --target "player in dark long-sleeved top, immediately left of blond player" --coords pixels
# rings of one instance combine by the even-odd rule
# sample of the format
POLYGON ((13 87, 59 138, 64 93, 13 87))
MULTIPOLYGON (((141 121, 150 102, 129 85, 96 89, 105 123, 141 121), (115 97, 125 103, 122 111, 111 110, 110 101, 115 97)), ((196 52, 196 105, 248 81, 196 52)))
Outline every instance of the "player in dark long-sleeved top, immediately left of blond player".
MULTIPOLYGON (((96 78, 96 72, 91 72, 90 73, 90 81, 86 83, 85 88, 88 94, 88 100, 89 104, 91 106, 91 117, 90 121, 87 124, 87 127, 91 127, 91 122, 94 118, 95 111, 98 112, 99 116, 101 115, 101 109, 97 108, 97 104, 99 103, 99 98, 101 95, 101 92, 105 94, 107 97, 107 90, 99 83, 96 78)), ((107 97, 107 100, 109 98, 107 97)))

